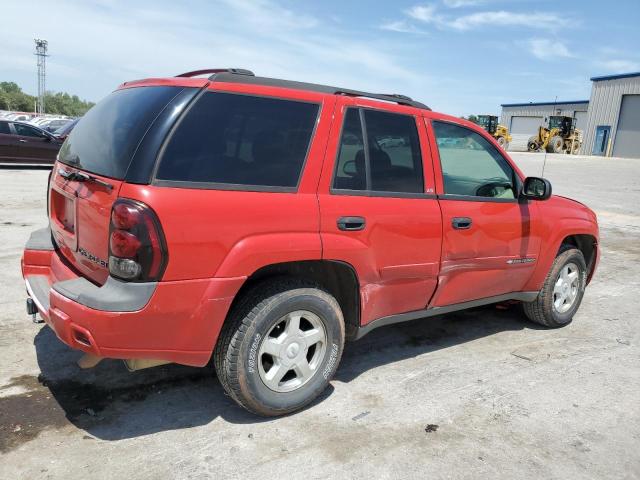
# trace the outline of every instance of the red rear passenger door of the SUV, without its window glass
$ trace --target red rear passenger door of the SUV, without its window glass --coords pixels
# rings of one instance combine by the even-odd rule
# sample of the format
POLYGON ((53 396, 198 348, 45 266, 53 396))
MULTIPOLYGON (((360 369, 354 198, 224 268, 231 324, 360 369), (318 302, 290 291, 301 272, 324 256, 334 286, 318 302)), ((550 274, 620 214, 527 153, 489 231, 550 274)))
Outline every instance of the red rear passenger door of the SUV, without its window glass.
MULTIPOLYGON (((435 198, 393 198, 333 194, 330 185, 340 143, 342 118, 348 106, 380 108, 379 102, 341 98, 336 106, 333 130, 327 145, 320 179, 323 258, 352 265, 361 291, 362 325, 394 313, 427 307, 437 285, 440 262, 441 218, 435 198), (337 227, 343 216, 366 219, 362 231, 345 232, 337 227)), ((416 109, 384 105, 385 110, 413 114, 416 109)), ((421 150, 428 152, 426 132, 416 117, 421 150)), ((433 191, 429 156, 426 159, 425 191, 433 191)))

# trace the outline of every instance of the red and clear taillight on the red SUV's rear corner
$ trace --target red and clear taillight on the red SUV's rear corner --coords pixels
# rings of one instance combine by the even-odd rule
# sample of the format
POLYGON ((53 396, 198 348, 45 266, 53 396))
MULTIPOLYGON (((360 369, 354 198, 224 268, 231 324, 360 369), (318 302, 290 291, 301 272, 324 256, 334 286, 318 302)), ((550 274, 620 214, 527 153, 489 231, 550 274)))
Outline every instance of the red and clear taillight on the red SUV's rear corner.
POLYGON ((109 273, 134 282, 160 280, 167 248, 156 214, 142 202, 118 199, 111 209, 109 273))

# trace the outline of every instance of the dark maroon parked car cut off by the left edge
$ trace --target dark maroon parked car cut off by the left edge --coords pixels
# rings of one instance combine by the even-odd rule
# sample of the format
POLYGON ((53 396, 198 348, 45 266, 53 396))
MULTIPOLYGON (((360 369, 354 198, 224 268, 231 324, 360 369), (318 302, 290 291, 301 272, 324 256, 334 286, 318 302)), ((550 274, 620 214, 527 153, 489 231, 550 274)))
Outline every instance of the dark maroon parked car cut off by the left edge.
POLYGON ((34 125, 0 120, 0 164, 53 165, 61 145, 34 125))

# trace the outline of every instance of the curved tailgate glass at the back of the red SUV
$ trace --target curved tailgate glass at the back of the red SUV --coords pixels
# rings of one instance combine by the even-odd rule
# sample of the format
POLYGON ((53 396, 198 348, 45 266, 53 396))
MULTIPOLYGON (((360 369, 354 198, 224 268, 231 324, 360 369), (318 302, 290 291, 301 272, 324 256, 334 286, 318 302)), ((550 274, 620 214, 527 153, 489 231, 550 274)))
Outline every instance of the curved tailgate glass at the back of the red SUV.
POLYGON ((105 177, 123 179, 140 140, 182 87, 117 90, 89 110, 67 137, 59 160, 105 177))

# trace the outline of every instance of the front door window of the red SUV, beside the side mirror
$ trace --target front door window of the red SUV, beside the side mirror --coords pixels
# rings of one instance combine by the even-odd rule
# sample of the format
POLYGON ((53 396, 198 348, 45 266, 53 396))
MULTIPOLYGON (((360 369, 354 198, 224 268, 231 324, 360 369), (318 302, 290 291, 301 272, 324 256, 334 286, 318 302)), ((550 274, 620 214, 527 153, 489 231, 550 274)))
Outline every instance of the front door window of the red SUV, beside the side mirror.
POLYGON ((515 198, 515 175, 504 157, 482 135, 458 125, 433 122, 444 193, 515 198))

